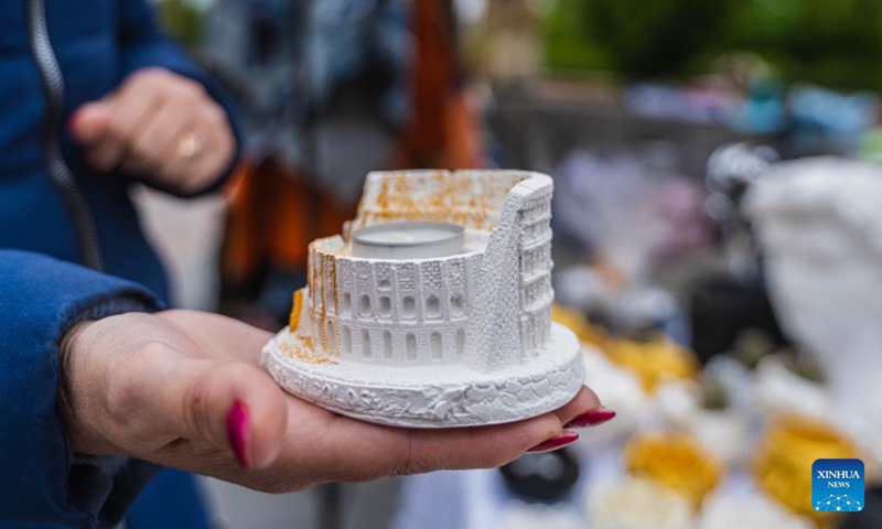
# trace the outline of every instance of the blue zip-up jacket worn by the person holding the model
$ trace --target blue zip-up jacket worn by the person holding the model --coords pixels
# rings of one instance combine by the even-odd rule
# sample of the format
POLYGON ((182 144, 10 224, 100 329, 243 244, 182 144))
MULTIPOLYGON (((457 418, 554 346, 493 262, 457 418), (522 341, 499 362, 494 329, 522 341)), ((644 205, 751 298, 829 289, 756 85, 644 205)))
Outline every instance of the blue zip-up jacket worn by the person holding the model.
MULTIPOLYGON (((157 310, 166 295, 162 267, 128 197, 130 181, 89 174, 64 127, 82 104, 148 66, 202 82, 229 108, 159 31, 146 0, 0 2, 0 527, 111 527, 157 472, 133 460, 75 456, 55 413, 57 343, 65 330, 87 317, 157 310), (35 13, 45 23, 42 35, 35 13), (35 52, 46 40, 63 77, 62 98, 57 86, 47 89, 45 57, 35 52), (53 141, 73 174, 80 209, 92 217, 103 273, 75 264, 84 262, 83 237, 69 197, 51 177, 53 141)), ((163 505, 136 512, 165 517, 161 527, 204 525, 187 476, 159 481, 178 493, 169 499, 153 490, 147 496, 163 505), (176 511, 184 518, 174 521, 176 511)), ((146 527, 136 519, 128 525, 146 527)))

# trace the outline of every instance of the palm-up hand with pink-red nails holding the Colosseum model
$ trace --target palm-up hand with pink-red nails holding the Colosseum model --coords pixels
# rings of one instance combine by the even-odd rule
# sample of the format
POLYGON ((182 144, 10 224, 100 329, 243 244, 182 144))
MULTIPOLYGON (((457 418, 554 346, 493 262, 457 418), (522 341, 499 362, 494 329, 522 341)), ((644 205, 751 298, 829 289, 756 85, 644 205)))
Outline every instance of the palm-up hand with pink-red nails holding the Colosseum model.
POLYGON ((583 389, 553 413, 510 424, 410 430, 329 412, 258 367, 270 334, 214 314, 125 314, 75 326, 62 344, 62 415, 74 450, 139 457, 265 492, 435 469, 503 465, 609 419, 583 389), (550 441, 550 442, 549 442, 550 441))

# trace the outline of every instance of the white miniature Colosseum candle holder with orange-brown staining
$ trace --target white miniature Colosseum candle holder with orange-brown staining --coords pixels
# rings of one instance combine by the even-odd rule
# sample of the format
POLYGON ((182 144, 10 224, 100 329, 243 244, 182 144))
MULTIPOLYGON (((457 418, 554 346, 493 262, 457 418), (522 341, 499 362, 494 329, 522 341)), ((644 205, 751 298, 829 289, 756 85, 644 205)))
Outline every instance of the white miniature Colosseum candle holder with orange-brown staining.
POLYGON ((370 173, 344 235, 310 245, 309 284, 263 367, 304 400, 400 427, 510 422, 564 404, 584 374, 576 336, 551 322, 551 193, 549 176, 523 171, 370 173), (359 253, 354 235, 402 222, 459 225, 464 247, 359 253))

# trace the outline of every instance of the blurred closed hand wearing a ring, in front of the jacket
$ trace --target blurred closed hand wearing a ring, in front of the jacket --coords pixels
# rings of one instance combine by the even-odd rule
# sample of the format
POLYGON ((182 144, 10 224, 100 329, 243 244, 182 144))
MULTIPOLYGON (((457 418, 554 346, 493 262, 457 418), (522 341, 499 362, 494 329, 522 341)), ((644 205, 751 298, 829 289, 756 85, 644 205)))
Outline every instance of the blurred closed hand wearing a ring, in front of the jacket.
POLYGON ((224 109, 198 83, 161 68, 138 71, 83 105, 69 128, 95 171, 119 169, 184 194, 208 187, 235 152, 224 109))

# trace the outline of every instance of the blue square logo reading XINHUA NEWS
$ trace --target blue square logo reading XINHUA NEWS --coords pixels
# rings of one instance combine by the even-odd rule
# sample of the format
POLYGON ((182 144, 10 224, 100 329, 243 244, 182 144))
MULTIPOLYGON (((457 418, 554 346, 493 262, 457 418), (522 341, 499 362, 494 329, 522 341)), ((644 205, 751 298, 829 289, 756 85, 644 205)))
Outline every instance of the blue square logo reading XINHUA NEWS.
POLYGON ((821 512, 863 510, 863 462, 817 460, 811 465, 811 506, 821 512))

